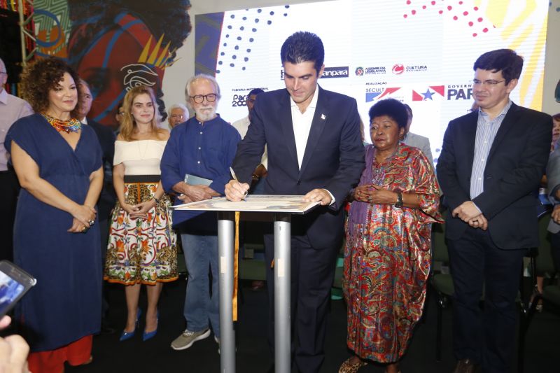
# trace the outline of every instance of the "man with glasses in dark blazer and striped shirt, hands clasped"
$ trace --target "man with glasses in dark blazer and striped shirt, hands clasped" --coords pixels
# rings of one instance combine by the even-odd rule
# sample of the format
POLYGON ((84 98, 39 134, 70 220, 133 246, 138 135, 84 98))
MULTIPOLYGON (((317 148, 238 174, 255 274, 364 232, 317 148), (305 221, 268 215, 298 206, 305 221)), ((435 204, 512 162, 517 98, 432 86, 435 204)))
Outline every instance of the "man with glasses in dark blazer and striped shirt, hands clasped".
POLYGON ((449 122, 437 161, 449 209, 457 373, 474 372, 476 365, 510 372, 523 257, 538 246, 535 206, 552 118, 510 101, 522 67, 523 59, 508 49, 477 59, 472 93, 479 110, 449 122))

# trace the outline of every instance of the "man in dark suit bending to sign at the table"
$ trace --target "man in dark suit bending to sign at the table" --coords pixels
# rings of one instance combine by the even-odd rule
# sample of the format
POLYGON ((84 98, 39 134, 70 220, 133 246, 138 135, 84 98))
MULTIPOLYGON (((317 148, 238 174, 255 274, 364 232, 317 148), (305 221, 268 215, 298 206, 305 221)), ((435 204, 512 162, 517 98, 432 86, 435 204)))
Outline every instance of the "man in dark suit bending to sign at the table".
MULTIPOLYGON (((225 188, 239 201, 267 145, 265 194, 304 195, 321 206, 291 225, 291 311, 299 345, 300 372, 318 372, 323 363, 326 314, 335 260, 344 234, 344 199, 364 167, 356 100, 318 87, 323 73, 321 39, 296 32, 281 48, 286 89, 261 93, 251 125, 239 143, 233 168, 239 178, 225 188)), ((272 235, 265 236, 267 263, 274 258, 272 235)), ((274 342, 274 274, 267 267, 269 344, 274 342)))

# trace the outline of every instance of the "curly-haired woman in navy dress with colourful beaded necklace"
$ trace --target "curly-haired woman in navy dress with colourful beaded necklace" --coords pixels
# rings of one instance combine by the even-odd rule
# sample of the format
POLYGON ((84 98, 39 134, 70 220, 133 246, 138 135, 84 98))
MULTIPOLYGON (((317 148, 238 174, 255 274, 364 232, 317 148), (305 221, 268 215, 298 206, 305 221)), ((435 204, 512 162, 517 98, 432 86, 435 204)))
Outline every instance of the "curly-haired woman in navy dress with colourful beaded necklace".
POLYGON ((60 373, 92 360, 101 321, 101 251, 95 204, 103 183, 94 130, 76 120, 77 74, 50 57, 22 74, 36 114, 15 122, 6 150, 22 186, 14 260, 37 279, 16 318, 31 346, 29 370, 60 373))

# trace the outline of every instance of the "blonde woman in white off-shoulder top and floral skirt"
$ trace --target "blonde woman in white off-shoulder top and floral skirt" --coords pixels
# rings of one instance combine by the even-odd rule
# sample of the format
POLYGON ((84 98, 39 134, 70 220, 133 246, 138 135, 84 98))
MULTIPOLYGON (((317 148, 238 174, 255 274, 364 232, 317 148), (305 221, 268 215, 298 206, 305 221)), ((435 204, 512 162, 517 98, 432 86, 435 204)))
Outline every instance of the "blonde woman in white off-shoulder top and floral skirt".
POLYGON ((124 118, 115 143, 113 184, 118 202, 113 209, 105 276, 123 283, 127 323, 120 341, 134 336, 139 325, 141 284, 147 286, 148 308, 143 340, 158 331, 158 300, 162 283, 177 279, 176 236, 170 200, 160 183, 160 160, 169 132, 160 128, 153 90, 134 87, 123 102, 124 118))

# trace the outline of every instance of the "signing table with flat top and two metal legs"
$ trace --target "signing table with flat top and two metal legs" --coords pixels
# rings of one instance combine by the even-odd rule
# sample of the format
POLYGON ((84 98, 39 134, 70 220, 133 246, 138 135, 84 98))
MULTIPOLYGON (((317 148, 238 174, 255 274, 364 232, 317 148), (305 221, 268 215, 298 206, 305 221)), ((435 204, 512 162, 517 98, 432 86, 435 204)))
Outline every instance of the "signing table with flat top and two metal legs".
MULTIPOLYGON (((274 364, 276 373, 290 373, 290 216, 307 213, 318 205, 318 202, 302 202, 302 197, 248 195, 241 202, 230 202, 225 197, 220 197, 174 206, 177 210, 218 212, 222 373, 235 373, 232 296, 235 212, 237 211, 258 213, 260 218, 270 220, 272 217, 274 221, 274 364)), ((252 215, 257 217, 255 214, 252 215)))

